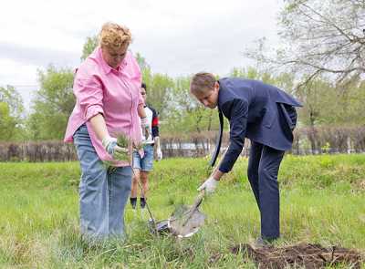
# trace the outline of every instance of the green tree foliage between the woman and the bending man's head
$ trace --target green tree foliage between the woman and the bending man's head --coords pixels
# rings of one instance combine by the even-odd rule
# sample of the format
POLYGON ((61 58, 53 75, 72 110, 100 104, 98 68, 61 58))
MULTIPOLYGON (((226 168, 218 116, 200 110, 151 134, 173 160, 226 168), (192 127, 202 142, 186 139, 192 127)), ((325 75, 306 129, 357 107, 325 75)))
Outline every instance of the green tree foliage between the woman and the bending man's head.
MULTIPOLYGON (((147 103, 159 112, 162 132, 202 132, 217 128, 213 110, 204 109, 189 93, 190 77, 170 78, 151 72, 141 54, 136 54, 142 80, 147 85, 147 103)), ((217 118, 215 118, 217 119, 217 118)))

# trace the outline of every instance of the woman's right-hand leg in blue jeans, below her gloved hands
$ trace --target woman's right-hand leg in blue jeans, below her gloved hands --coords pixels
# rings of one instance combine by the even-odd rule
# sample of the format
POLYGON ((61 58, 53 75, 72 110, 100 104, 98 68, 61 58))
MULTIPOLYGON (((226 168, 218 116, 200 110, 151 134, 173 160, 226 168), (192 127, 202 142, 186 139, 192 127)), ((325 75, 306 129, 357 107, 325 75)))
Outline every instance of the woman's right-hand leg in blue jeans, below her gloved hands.
POLYGON ((131 167, 119 167, 109 175, 109 230, 124 235, 124 208, 130 196, 131 167))

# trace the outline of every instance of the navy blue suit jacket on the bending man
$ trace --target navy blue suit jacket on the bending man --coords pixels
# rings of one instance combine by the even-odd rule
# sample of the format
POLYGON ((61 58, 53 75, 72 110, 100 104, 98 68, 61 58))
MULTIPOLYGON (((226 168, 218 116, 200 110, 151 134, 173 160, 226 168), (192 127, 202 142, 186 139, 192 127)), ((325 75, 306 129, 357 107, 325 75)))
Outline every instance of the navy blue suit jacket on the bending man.
POLYGON ((230 145, 220 171, 231 171, 245 138, 276 150, 291 149, 295 107, 301 107, 295 98, 257 80, 222 78, 218 82, 218 109, 230 123, 230 145))

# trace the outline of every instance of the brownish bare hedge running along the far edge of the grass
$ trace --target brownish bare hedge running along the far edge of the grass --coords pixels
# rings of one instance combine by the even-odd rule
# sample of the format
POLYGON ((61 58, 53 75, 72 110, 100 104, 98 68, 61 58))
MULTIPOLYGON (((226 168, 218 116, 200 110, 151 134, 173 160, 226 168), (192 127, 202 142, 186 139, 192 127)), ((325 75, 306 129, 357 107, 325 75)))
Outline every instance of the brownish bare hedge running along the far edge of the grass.
MULTIPOLYGON (((164 158, 203 157, 214 150, 216 131, 167 135, 162 137, 164 158)), ((224 133, 223 147, 228 144, 224 133)), ((247 156, 249 141, 242 154, 247 156)), ((365 152, 365 126, 300 128, 295 131, 292 154, 365 152)), ((0 161, 69 161, 77 160, 73 144, 59 140, 0 143, 0 161)))

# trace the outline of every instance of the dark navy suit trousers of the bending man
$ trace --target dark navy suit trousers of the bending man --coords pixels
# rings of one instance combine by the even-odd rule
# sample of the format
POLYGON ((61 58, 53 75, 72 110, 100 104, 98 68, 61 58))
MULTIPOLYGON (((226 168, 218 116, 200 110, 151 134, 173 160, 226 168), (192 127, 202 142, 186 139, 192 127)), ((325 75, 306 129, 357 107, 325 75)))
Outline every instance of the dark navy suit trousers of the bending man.
POLYGON ((280 236, 277 173, 284 153, 251 141, 247 175, 260 210, 261 237, 266 240, 280 236))

